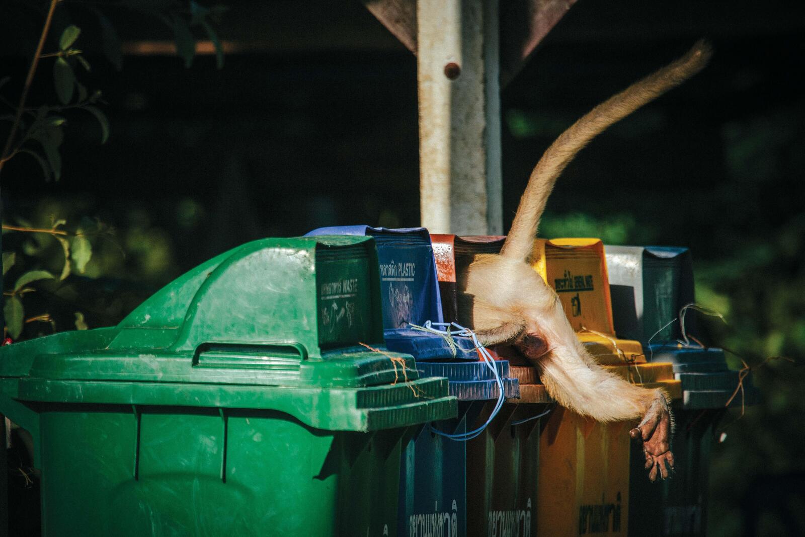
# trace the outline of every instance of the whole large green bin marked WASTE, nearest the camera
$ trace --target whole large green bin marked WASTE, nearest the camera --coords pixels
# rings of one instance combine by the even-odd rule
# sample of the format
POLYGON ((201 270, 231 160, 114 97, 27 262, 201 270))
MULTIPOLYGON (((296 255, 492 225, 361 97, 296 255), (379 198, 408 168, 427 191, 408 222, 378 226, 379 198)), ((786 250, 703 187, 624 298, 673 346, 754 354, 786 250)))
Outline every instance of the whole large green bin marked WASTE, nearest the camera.
POLYGON ((456 399, 382 347, 378 286, 370 238, 263 239, 0 349, 43 535, 394 535, 406 428, 456 399))

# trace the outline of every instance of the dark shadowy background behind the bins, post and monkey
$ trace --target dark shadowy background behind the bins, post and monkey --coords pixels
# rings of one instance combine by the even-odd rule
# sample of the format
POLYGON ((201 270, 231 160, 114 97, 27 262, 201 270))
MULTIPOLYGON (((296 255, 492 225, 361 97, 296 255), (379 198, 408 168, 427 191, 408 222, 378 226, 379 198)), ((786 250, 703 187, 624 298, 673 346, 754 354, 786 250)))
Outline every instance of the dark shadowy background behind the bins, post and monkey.
MULTIPOLYGON (((414 56, 357 2, 229 3, 221 35, 242 46, 223 69, 214 56, 186 69, 175 56, 133 53, 118 72, 89 50, 109 143, 97 144, 93 118, 68 117, 60 182, 44 183, 23 159, 6 167, 6 220, 97 217, 117 229, 84 276, 36 297, 56 329, 73 328, 76 310, 91 328, 114 324, 183 271, 254 238, 418 225, 414 56)), ((556 135, 700 36, 711 39, 716 54, 703 73, 568 167, 540 234, 689 246, 697 299, 727 320, 706 321, 698 336, 749 363, 795 360, 758 368, 760 403, 722 423, 709 528, 802 535, 805 13, 795 2, 649 3, 582 0, 503 91, 505 224, 556 135)), ((110 18, 124 42, 170 39, 139 19, 110 18)), ((14 52, 35 31, 32 23, 0 53, 3 72, 22 76, 24 54, 14 52)), ((41 78, 32 100, 52 99, 41 78)))

